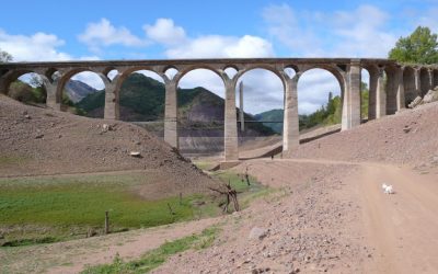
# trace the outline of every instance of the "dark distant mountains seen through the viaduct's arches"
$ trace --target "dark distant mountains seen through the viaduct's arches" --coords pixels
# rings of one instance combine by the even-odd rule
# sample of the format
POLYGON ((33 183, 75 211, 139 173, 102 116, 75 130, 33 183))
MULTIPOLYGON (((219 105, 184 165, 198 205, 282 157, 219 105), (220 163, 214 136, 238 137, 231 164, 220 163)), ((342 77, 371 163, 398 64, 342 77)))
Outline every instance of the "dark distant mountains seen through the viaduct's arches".
MULTIPOLYGON (((130 75, 120 88, 123 121, 162 121, 164 116, 164 84, 141 73, 130 75)), ((104 91, 88 94, 76 104, 87 116, 102 117, 104 91)), ((224 101, 205 88, 178 89, 178 126, 185 136, 222 136, 224 101)), ((246 119, 254 119, 245 114, 246 119)), ((241 136, 266 136, 275 132, 258 123, 249 123, 241 136)))

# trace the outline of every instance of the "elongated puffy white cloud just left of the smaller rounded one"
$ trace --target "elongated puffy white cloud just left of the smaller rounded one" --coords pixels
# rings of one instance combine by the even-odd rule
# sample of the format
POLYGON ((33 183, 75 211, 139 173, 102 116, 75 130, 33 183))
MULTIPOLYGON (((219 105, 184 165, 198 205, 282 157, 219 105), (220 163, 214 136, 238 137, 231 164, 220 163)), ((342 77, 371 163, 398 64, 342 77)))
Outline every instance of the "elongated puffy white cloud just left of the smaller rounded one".
POLYGON ((114 26, 107 19, 101 19, 100 22, 89 23, 85 31, 78 35, 80 42, 85 43, 90 50, 99 53, 102 46, 124 45, 124 46, 143 46, 145 39, 131 34, 124 26, 114 26))

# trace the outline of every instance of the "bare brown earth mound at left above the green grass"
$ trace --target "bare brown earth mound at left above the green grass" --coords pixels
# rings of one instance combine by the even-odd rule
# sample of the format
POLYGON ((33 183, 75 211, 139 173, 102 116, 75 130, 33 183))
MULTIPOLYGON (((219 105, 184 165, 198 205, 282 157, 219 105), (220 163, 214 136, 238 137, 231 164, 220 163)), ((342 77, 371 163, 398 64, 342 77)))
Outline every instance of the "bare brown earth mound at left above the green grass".
POLYGON ((201 191, 199 185, 211 183, 140 127, 33 107, 0 95, 0 176, 122 170, 151 171, 164 193, 201 191))

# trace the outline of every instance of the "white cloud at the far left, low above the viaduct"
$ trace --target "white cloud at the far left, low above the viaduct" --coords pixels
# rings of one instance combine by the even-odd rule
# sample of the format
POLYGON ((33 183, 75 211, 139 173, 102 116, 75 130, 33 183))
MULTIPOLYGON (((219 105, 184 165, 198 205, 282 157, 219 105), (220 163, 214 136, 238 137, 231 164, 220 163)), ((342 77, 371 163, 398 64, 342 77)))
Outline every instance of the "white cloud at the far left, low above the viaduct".
POLYGON ((31 36, 12 35, 0 28, 0 48, 13 56, 14 61, 70 60, 72 57, 58 50, 65 42, 54 34, 37 32, 31 36))

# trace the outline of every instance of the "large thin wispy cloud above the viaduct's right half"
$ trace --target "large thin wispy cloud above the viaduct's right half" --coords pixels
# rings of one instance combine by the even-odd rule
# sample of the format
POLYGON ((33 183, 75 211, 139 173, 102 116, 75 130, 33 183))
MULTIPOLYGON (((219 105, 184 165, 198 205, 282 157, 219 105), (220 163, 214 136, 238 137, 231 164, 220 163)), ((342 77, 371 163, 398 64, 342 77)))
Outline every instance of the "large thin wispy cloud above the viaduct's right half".
POLYGON ((397 38, 385 28, 390 15, 370 4, 335 12, 269 5, 263 18, 272 37, 302 57, 385 57, 397 38))

